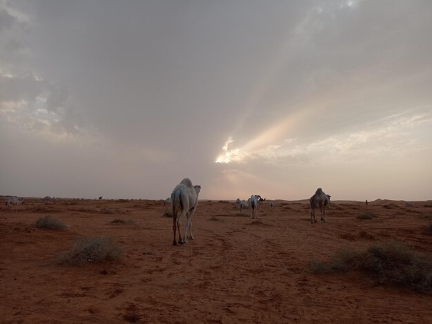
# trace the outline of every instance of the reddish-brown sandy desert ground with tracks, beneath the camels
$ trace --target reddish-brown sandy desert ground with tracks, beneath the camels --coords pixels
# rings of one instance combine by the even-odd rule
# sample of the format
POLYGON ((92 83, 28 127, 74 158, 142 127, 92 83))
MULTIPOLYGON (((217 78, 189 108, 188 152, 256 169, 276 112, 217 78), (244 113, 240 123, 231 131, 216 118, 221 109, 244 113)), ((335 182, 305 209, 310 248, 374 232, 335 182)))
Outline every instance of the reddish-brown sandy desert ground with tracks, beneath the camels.
POLYGON ((27 199, 0 207, 1 323, 432 323, 432 295, 364 274, 312 274, 312 258, 395 239, 431 253, 432 201, 332 201, 311 224, 306 201, 259 208, 200 201, 195 240, 173 246, 162 201, 27 199), (370 210, 371 221, 356 219, 370 210), (32 225, 51 215, 68 230, 32 225), (114 219, 131 220, 112 225, 114 219), (110 236, 116 263, 55 265, 79 236, 110 236))

